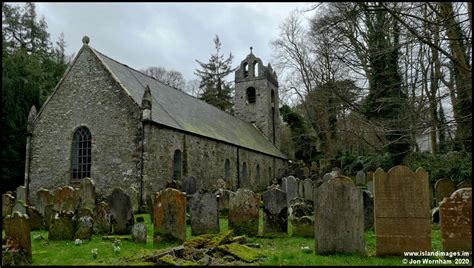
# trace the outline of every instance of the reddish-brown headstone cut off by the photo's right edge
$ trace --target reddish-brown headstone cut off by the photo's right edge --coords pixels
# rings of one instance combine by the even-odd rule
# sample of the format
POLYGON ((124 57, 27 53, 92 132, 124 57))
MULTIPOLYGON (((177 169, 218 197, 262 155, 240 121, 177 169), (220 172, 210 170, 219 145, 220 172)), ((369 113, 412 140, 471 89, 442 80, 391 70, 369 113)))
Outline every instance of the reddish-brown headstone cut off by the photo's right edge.
POLYGON ((463 188, 439 204, 444 251, 472 251, 472 188, 463 188))

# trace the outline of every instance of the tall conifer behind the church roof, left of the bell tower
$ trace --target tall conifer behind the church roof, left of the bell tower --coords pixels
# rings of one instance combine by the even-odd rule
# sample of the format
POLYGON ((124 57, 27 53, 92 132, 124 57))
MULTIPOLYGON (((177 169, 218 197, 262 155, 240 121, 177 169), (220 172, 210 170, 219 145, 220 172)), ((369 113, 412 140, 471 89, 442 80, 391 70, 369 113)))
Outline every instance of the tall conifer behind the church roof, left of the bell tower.
POLYGON ((199 88, 202 94, 199 98, 223 111, 231 112, 232 87, 231 83, 225 81, 224 78, 236 70, 231 67, 233 56, 230 53, 229 57, 224 59, 224 55, 220 53, 222 44, 217 34, 214 45, 216 53, 211 54, 208 63, 196 60, 201 67, 201 70, 196 69, 194 72, 201 79, 199 88))

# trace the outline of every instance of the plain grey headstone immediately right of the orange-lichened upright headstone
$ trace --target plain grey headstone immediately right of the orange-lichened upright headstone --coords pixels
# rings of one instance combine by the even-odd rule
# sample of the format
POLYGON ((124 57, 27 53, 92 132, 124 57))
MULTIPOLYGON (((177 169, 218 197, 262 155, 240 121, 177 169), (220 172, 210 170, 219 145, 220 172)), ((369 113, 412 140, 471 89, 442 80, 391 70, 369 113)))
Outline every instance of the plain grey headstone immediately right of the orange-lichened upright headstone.
POLYGON ((219 233, 219 208, 214 193, 196 192, 189 200, 191 234, 219 233))

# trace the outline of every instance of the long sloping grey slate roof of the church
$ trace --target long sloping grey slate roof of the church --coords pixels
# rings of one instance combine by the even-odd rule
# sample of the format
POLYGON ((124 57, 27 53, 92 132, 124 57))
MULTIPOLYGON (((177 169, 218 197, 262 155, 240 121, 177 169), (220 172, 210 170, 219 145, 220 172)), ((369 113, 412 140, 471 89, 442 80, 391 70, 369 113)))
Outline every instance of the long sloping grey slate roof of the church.
POLYGON ((139 106, 145 87, 150 87, 154 122, 286 159, 250 123, 117 62, 93 48, 91 50, 139 106))

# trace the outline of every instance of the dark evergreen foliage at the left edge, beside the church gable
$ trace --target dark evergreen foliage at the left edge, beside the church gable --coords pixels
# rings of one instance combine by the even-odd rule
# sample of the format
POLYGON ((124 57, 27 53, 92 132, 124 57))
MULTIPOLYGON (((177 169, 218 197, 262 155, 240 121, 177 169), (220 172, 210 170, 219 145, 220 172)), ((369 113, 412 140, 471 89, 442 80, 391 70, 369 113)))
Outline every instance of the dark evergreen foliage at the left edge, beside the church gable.
POLYGON ((23 183, 26 124, 30 108, 40 108, 67 67, 64 36, 53 47, 34 3, 2 3, 2 184, 23 183))

